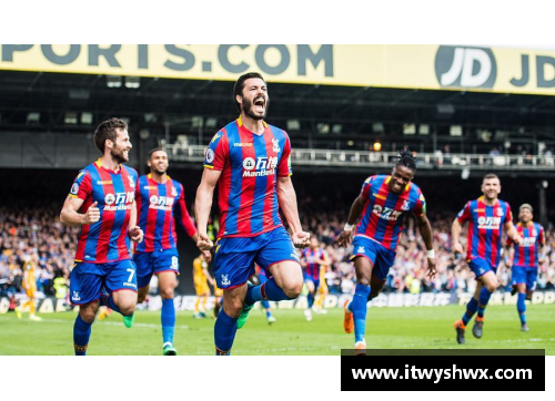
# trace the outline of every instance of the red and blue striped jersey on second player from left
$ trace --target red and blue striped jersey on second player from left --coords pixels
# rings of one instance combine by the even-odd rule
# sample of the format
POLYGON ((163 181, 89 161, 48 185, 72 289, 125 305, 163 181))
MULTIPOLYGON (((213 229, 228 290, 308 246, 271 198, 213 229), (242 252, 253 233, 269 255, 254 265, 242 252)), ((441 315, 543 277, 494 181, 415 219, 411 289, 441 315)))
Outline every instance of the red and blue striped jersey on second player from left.
POLYGON ((175 219, 192 237, 196 234, 194 223, 185 205, 183 185, 170 178, 165 184, 142 175, 135 191, 138 224, 144 233, 144 240, 135 248, 138 253, 170 249, 178 245, 175 219), (174 217, 175 216, 175 217, 174 217))

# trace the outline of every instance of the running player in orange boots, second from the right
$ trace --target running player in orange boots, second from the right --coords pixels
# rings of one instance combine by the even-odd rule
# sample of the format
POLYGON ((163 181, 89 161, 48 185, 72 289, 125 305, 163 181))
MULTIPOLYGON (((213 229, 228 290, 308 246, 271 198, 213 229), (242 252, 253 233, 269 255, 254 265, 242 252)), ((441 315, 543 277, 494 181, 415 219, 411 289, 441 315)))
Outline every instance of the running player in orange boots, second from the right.
POLYGON ((466 263, 476 275, 476 291, 466 305, 466 312, 461 320, 455 321, 456 341, 465 343, 464 331, 468 321, 477 311, 472 333, 482 338, 484 328, 484 312, 490 297, 497 289, 497 265, 500 264, 503 228, 507 236, 516 244, 522 244, 514 224, 511 206, 497 196, 501 193, 501 182, 495 174, 487 174, 482 181, 483 196, 468 200, 453 222, 451 233, 453 251, 455 255, 463 253, 458 241, 462 225, 470 222, 466 244, 466 263))

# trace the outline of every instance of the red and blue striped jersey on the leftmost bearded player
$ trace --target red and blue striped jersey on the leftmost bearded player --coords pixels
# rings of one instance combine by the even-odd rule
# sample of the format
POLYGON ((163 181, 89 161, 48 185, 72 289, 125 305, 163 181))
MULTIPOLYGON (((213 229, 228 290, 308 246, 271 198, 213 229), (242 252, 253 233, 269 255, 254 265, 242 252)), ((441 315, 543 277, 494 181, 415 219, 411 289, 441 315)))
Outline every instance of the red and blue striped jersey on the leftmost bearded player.
POLYGON ((75 261, 103 264, 129 259, 128 225, 134 202, 137 172, 123 164, 114 173, 101 160, 79 172, 69 196, 83 199, 80 213, 98 202, 100 219, 81 228, 75 261))

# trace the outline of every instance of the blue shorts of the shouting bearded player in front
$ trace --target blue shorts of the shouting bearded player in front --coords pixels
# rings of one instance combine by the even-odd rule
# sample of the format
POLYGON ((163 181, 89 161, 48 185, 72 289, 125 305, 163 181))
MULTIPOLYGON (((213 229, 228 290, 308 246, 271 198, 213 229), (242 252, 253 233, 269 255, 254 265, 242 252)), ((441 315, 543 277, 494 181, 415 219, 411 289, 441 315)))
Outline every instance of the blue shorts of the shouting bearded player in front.
POLYGON ((254 274, 254 263, 268 270, 284 260, 300 265, 293 241, 283 227, 256 237, 224 237, 215 245, 215 281, 222 289, 240 287, 254 274))

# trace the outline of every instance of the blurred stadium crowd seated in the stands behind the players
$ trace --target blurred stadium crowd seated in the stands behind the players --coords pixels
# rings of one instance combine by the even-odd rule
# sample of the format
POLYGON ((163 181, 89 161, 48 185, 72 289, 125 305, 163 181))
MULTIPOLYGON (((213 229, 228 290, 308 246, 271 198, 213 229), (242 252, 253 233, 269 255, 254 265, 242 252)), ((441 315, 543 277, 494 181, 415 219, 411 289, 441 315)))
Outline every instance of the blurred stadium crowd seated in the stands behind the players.
MULTIPOLYGON (((332 260, 331 269, 325 277, 330 292, 351 292, 355 280, 353 265, 349 261, 352 249, 340 247, 336 243, 345 223, 347 208, 343 205, 331 208, 336 212, 330 212, 330 208, 317 209, 310 198, 302 200, 299 208, 303 227, 319 237, 332 260)), ((12 297, 21 291, 22 266, 26 258, 33 255, 38 265, 36 278, 39 291, 47 296, 61 296, 63 288, 60 286, 64 284, 68 288, 79 228, 63 226, 58 218, 58 207, 53 206, 0 208, 0 296, 12 297), (63 280, 54 284, 57 278, 63 280)), ((426 277, 425 246, 415 222, 414 219, 405 222, 395 265, 384 287, 385 292, 474 290, 474 275, 466 267, 464 257, 455 258, 451 250, 453 218, 453 215, 430 215, 437 251, 437 275, 433 280, 426 277)), ((218 222, 214 223, 215 234, 218 222)), ((547 257, 539 267, 538 289, 555 288, 555 230, 553 227, 546 229, 547 257)), ((464 241, 464 235, 462 239, 464 241)), ((511 271, 505 268, 504 258, 500 278, 503 287, 508 289, 511 271)))

